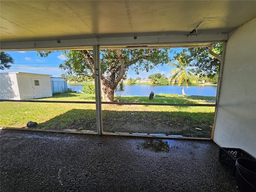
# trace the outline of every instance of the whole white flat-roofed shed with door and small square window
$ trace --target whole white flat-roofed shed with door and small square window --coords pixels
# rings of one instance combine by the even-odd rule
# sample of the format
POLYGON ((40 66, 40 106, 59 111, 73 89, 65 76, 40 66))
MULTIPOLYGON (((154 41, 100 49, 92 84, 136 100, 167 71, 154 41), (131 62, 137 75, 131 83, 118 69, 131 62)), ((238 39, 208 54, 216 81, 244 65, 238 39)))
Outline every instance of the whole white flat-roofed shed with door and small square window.
POLYGON ((52 97, 50 75, 0 73, 0 99, 26 100, 52 97))

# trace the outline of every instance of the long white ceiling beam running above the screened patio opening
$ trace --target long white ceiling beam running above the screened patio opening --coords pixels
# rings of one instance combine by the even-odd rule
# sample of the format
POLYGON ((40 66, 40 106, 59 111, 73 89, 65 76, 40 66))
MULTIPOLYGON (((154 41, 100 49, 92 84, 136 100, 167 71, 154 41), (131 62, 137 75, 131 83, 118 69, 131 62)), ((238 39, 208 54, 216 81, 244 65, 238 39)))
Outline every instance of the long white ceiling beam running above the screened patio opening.
POLYGON ((0 44, 1 51, 17 50, 78 50, 92 49, 99 45, 104 48, 163 48, 163 47, 187 47, 209 46, 214 42, 228 40, 228 33, 198 34, 196 35, 162 35, 162 36, 138 36, 122 38, 93 38, 78 40, 54 40, 36 42, 7 42, 0 44))

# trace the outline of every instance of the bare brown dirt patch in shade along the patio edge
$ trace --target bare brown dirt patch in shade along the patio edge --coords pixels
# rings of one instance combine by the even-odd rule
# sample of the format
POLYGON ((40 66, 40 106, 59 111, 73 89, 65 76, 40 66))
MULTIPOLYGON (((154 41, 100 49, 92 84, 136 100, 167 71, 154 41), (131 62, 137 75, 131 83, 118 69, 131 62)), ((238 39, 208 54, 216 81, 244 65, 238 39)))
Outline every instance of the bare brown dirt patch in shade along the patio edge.
MULTIPOLYGON (((126 133, 147 133, 147 134, 166 134, 182 135, 186 137, 210 138, 212 126, 209 124, 188 124, 188 120, 170 121, 166 119, 157 119, 144 117, 143 119, 122 118, 114 120, 111 118, 103 119, 103 130, 105 132, 126 132, 126 133)), ((74 130, 92 130, 96 131, 96 121, 76 122, 65 127, 74 130)), ((53 128, 45 128, 53 129, 53 128)), ((56 125, 54 130, 62 130, 61 126, 56 125)))

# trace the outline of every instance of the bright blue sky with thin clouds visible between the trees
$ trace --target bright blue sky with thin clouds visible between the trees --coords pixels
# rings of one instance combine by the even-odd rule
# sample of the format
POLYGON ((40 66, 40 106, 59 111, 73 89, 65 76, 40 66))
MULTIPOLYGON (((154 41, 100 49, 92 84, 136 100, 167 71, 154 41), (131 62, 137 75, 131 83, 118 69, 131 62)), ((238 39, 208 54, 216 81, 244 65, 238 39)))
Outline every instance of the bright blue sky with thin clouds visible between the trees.
MULTIPOLYGON (((8 51, 8 54, 14 59, 14 64, 10 69, 0 71, 3 72, 26 72, 36 74, 48 74, 54 77, 59 77, 64 71, 59 69, 59 64, 66 59, 61 52, 54 52, 46 58, 42 58, 36 55, 36 51, 8 51)), ((164 73, 167 77, 170 77, 170 68, 168 65, 158 66, 153 71, 146 72, 142 71, 138 75, 140 78, 148 78, 152 73, 164 73)), ((132 71, 128 71, 128 78, 135 79, 137 75, 132 71)))

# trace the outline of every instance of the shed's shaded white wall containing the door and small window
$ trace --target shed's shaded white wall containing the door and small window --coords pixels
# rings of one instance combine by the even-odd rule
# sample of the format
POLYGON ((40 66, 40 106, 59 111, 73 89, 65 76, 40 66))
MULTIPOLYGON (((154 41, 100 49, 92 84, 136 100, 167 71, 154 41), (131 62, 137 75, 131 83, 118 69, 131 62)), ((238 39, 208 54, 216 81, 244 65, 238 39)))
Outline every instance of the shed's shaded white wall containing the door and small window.
POLYGON ((20 99, 34 99, 52 97, 52 86, 50 82, 50 75, 18 73, 18 87, 20 92, 20 99), (33 91, 32 78, 40 80, 40 92, 33 91))

